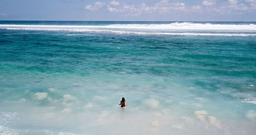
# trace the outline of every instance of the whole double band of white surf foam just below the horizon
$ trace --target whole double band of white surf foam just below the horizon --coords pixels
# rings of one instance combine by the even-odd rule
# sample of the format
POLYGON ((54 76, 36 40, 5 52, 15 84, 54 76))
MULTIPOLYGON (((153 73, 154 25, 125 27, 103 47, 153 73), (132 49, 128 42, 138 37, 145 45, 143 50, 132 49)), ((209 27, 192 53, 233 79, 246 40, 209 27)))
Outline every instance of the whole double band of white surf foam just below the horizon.
POLYGON ((195 33, 174 32, 174 30, 235 30, 255 32, 256 25, 197 24, 193 22, 173 22, 171 24, 116 24, 105 26, 60 26, 60 25, 0 25, 0 29, 39 30, 39 31, 73 31, 73 32, 111 32, 119 34, 155 34, 155 35, 199 35, 199 36, 256 36, 254 33, 195 33), (143 30, 143 32, 141 32, 143 30), (160 32, 152 32, 158 30, 160 32), (163 32, 164 30, 164 32, 163 32), (172 31, 172 32, 170 32, 172 31))

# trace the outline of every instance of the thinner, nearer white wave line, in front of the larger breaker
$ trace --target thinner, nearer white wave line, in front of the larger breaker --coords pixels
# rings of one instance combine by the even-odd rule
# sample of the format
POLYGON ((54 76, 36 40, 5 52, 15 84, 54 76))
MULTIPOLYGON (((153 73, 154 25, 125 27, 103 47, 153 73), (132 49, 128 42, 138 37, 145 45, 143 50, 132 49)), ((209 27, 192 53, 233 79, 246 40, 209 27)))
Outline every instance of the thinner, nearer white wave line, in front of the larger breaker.
MULTIPOLYGON (((2 28, 3 29, 3 28, 2 28)), ((168 32, 128 32, 128 31, 111 31, 111 30, 76 30, 76 29, 36 29, 36 28, 4 28, 8 30, 43 30, 43 31, 75 31, 75 32, 110 32, 121 34, 142 34, 142 35, 194 35, 194 36, 256 36, 256 34, 246 33, 168 33, 168 32)))

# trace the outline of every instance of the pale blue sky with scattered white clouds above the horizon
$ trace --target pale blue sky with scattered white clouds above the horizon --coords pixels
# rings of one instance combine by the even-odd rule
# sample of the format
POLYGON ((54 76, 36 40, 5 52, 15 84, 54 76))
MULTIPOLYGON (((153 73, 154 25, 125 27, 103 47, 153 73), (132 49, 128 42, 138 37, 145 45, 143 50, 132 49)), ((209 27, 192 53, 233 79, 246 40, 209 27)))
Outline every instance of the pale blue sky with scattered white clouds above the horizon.
POLYGON ((0 0, 0 20, 256 21, 256 0, 0 0))

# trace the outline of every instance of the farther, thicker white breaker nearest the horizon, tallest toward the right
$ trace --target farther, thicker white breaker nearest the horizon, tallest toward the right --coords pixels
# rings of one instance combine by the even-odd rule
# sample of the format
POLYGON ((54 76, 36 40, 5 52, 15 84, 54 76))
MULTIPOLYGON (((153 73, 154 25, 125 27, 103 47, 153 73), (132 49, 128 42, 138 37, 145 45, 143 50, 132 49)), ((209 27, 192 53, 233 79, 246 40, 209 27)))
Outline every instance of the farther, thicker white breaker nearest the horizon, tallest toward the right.
POLYGON ((113 24, 113 25, 0 25, 12 28, 106 28, 106 29, 181 29, 181 30, 256 30, 256 25, 228 25, 228 24, 197 24, 193 22, 173 22, 171 24, 113 24))

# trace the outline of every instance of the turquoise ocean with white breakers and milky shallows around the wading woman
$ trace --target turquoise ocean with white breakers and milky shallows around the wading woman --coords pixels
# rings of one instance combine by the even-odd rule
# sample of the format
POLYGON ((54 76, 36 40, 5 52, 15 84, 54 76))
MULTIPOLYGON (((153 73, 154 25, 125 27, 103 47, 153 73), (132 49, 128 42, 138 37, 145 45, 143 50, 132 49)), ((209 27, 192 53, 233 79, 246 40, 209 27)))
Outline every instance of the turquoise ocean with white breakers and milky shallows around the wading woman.
POLYGON ((255 86, 256 22, 0 21, 0 134, 255 134, 255 86))

